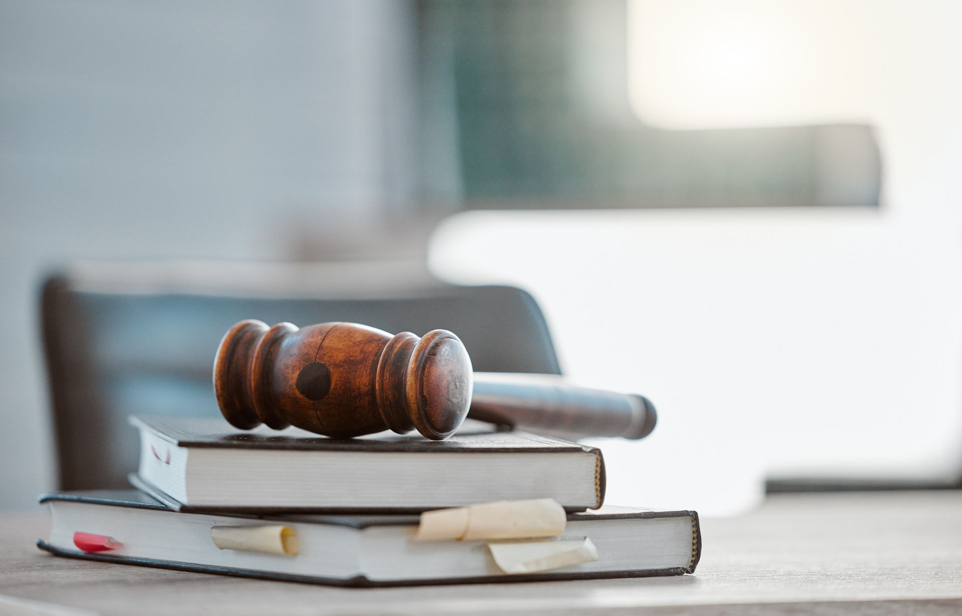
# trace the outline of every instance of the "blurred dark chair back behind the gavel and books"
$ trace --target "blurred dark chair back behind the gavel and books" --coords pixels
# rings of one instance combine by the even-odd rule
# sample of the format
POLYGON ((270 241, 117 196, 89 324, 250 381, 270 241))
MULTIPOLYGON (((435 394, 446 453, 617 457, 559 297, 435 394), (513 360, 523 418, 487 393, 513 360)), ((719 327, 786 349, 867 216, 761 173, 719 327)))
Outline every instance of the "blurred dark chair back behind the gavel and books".
POLYGON ((60 487, 126 484, 139 451, 129 414, 218 416, 217 343, 247 318, 446 329, 476 370, 559 373, 544 315, 516 287, 450 285, 392 263, 78 266, 42 295, 60 487))

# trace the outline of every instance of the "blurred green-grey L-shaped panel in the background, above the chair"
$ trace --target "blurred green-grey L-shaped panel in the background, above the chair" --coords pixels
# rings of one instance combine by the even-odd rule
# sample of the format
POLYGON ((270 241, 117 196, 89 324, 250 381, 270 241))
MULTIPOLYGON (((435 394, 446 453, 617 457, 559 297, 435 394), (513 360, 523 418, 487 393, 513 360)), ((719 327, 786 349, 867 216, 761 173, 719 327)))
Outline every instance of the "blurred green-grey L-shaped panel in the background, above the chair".
POLYGON ((468 208, 878 202, 868 126, 685 132, 642 124, 627 106, 623 2, 427 0, 420 11, 422 37, 449 41, 428 49, 425 65, 452 67, 451 139, 468 208), (622 111, 599 111, 592 74, 613 69, 623 100, 610 108, 622 111))

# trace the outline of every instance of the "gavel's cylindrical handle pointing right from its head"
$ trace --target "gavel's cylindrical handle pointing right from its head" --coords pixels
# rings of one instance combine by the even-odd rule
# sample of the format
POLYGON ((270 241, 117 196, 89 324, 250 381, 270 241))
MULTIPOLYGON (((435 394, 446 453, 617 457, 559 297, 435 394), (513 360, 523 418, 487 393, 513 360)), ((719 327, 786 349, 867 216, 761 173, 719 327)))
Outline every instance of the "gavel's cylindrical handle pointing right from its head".
POLYGON ((642 438, 654 430, 644 396, 575 387, 550 375, 474 373, 468 417, 572 437, 642 438))

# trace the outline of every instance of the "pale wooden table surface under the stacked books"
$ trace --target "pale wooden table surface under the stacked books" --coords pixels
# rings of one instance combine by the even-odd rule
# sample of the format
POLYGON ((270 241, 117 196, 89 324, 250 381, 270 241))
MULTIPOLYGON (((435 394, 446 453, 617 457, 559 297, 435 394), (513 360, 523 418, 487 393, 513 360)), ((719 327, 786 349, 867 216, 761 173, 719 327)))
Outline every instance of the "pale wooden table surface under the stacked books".
POLYGON ((0 614, 962 614, 962 492, 775 495, 679 578, 350 589, 60 558, 0 516, 0 614), (641 610, 641 607, 646 609, 641 610))

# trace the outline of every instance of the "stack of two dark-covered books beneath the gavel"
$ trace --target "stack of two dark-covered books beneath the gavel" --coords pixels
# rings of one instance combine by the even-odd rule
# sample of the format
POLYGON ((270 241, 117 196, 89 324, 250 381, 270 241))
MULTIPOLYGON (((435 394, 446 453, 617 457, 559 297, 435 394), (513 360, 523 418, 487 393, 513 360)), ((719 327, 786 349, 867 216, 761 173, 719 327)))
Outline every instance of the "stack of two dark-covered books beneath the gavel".
POLYGON ((470 420, 445 441, 131 423, 138 489, 43 495, 52 529, 41 549, 361 586, 676 576, 694 572, 700 554, 696 512, 603 505, 601 452, 557 438, 470 420), (434 514, 473 530, 423 540, 433 532, 423 512, 493 502, 509 503, 434 514))

